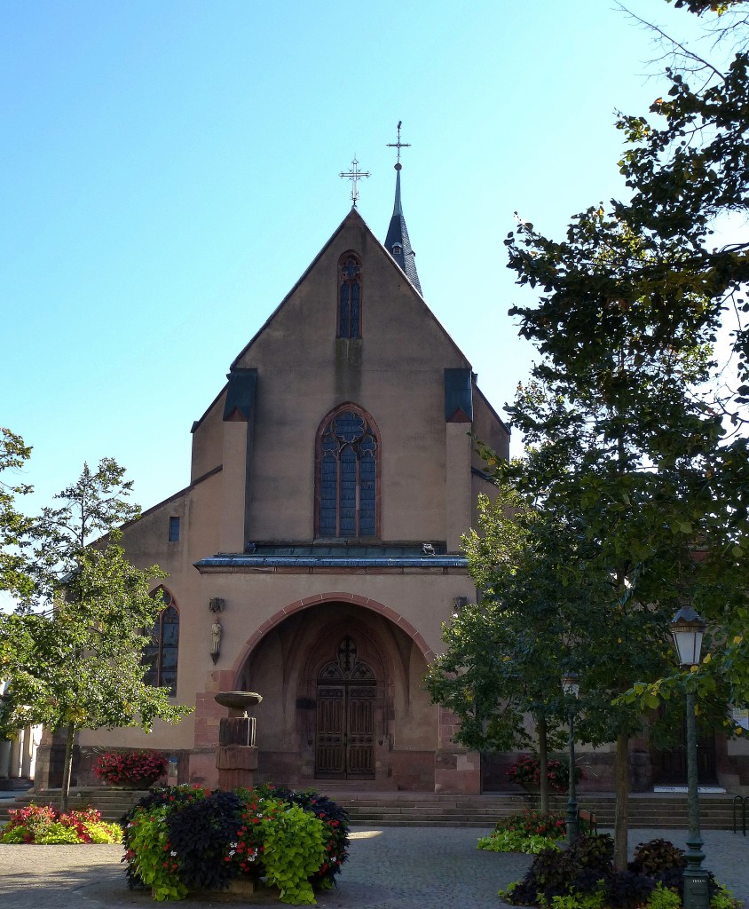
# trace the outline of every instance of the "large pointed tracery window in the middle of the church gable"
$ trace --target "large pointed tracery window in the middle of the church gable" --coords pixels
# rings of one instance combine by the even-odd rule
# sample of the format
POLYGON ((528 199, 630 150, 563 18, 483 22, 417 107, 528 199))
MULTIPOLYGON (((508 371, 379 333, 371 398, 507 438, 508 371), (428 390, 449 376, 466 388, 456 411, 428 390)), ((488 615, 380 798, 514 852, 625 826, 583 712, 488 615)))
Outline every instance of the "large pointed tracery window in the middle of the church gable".
POLYGON ((317 434, 318 536, 377 536, 379 435, 356 405, 325 417, 317 434))

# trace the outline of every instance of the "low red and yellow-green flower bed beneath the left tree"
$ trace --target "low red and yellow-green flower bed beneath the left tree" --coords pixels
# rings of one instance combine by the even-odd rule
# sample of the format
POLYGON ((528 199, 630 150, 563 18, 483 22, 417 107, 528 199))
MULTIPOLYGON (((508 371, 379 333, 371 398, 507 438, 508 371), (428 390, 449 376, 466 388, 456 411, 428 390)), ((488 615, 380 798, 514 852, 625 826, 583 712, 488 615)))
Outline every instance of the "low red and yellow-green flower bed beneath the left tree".
POLYGON ((0 843, 75 844, 119 843, 122 828, 107 824, 94 808, 60 814, 50 805, 11 808, 10 820, 0 831, 0 843))

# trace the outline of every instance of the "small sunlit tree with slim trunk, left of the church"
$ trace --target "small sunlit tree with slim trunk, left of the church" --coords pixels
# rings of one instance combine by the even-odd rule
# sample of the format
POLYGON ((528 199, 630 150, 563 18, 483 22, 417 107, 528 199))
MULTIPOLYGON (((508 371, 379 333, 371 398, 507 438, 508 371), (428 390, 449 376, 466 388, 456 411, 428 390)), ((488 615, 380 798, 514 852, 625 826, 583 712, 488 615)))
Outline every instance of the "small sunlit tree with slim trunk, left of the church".
POLYGON ((162 608, 149 594, 165 574, 135 567, 119 545, 118 524, 138 513, 131 484, 111 459, 87 465, 35 522, 35 591, 0 616, 0 675, 10 686, 5 728, 43 723, 65 729, 62 806, 68 803, 75 734, 81 729, 176 722, 189 708, 145 684, 142 653, 162 608), (105 534, 91 544, 93 534, 105 534))

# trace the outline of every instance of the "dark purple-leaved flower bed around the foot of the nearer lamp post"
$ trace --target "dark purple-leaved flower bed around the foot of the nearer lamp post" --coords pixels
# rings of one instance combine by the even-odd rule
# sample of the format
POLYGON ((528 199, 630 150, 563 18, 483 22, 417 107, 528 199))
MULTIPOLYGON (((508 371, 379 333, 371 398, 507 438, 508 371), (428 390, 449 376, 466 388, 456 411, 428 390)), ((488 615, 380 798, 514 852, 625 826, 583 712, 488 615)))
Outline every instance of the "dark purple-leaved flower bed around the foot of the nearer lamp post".
MULTIPOLYGON (((543 909, 681 909, 684 850, 666 840, 640 843, 626 871, 614 871, 614 841, 585 836, 568 849, 536 855, 522 881, 499 895, 543 909)), ((729 891, 708 873, 711 909, 737 909, 729 891)))

